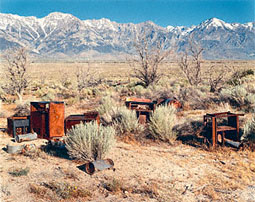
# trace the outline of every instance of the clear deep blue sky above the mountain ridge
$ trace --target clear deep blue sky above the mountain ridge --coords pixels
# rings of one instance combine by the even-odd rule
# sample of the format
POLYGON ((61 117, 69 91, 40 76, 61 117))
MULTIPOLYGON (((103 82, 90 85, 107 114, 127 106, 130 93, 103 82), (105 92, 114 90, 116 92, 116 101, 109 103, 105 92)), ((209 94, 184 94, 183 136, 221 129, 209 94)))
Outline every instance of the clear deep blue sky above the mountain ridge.
POLYGON ((41 18, 55 11, 82 20, 150 20, 161 26, 197 25, 212 17, 245 23, 255 21, 255 0, 0 0, 1 13, 41 18))

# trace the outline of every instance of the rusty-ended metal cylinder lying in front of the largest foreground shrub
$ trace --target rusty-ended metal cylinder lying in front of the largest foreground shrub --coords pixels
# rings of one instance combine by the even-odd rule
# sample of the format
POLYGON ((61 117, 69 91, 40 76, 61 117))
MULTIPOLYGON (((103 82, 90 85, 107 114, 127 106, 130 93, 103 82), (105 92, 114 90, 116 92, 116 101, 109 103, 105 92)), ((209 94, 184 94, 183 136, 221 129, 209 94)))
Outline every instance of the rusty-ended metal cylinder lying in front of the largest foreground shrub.
POLYGON ((93 175, 96 171, 113 168, 114 162, 111 159, 96 160, 86 163, 84 166, 86 173, 93 175))

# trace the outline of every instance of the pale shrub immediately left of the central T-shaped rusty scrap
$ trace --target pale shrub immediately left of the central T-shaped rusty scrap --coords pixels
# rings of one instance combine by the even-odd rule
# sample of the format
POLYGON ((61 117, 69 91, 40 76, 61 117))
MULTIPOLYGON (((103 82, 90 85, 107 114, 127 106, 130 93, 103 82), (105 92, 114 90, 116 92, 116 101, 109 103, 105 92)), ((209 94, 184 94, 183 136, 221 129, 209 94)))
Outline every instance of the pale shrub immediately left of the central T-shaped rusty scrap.
POLYGON ((121 134, 123 133, 139 133, 143 127, 138 123, 136 112, 127 109, 126 107, 119 107, 115 111, 114 126, 121 134))

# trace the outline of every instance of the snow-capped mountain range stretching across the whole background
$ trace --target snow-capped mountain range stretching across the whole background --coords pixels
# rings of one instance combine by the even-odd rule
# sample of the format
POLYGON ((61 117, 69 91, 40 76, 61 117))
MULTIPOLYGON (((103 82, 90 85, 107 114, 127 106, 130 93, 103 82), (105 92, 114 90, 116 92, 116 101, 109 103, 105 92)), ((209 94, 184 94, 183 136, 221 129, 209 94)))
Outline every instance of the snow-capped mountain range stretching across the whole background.
POLYGON ((226 23, 212 18, 197 26, 160 27, 151 21, 117 23, 109 19, 80 20, 73 15, 50 13, 44 18, 0 13, 0 50, 25 46, 38 57, 116 58, 132 53, 134 39, 144 32, 152 42, 163 38, 167 46, 184 50, 193 37, 208 59, 254 59, 255 22, 226 23))

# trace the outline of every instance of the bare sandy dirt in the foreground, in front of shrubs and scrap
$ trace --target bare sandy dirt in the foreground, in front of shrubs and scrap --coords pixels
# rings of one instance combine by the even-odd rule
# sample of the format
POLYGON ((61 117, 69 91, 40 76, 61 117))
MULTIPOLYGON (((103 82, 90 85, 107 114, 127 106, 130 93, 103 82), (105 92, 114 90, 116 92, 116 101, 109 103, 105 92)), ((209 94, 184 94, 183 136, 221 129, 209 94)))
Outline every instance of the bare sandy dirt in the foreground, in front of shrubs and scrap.
MULTIPOLYGON (((3 127, 5 119, 0 121, 3 127)), ((83 163, 54 153, 8 154, 4 148, 10 142, 0 134, 1 201, 255 201, 255 153, 250 151, 118 141, 107 155, 115 171, 90 176, 78 168, 83 163), (29 169, 27 175, 10 174, 22 168, 29 169), (69 197, 60 184, 87 194, 69 197)), ((39 147, 46 141, 27 143, 39 147)))

